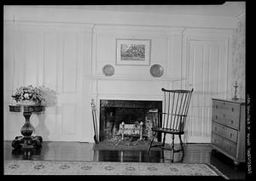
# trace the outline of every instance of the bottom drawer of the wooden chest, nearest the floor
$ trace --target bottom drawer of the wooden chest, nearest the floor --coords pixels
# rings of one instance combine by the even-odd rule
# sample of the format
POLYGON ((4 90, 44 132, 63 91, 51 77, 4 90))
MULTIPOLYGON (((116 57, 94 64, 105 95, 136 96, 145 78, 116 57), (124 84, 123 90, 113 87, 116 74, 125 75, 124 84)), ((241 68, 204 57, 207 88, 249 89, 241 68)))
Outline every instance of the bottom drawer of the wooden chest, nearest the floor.
POLYGON ((230 156, 236 157, 237 144, 212 133, 211 142, 230 156))

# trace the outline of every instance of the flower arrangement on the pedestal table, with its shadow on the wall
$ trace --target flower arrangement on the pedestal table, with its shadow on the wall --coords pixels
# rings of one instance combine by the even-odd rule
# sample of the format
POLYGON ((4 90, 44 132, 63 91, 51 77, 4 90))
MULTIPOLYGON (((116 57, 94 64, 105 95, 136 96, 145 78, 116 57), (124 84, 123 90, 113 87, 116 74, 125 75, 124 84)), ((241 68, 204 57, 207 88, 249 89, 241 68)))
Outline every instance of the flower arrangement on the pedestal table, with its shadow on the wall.
POLYGON ((56 93, 54 90, 43 87, 21 86, 16 93, 11 96, 16 102, 22 104, 53 105, 56 103, 56 93), (50 98, 50 99, 49 99, 50 98), (50 101, 49 101, 50 100, 50 101))

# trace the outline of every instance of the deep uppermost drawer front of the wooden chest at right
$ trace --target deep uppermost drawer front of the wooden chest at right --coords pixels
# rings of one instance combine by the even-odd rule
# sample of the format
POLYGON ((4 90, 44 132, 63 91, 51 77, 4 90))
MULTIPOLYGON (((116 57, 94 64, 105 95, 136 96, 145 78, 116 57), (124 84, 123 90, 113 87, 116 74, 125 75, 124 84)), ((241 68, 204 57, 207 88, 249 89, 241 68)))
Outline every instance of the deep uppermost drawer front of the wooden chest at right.
POLYGON ((239 130, 240 105, 224 101, 212 102, 212 121, 239 130))

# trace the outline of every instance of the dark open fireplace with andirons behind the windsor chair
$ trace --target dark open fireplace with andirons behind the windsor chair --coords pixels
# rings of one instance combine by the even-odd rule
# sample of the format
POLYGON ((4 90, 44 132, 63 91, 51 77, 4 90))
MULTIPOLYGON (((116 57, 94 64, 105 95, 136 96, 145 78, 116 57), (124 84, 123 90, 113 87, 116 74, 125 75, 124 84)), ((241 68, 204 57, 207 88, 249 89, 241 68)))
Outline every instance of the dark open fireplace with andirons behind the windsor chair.
MULTIPOLYGON (((152 100, 100 100, 100 141, 120 135, 122 122, 125 135, 137 137, 142 127, 143 138, 151 139, 157 112, 162 110, 162 101, 152 100)), ((159 119, 160 121, 160 119, 159 119)), ((156 136, 160 141, 160 134, 156 136)))

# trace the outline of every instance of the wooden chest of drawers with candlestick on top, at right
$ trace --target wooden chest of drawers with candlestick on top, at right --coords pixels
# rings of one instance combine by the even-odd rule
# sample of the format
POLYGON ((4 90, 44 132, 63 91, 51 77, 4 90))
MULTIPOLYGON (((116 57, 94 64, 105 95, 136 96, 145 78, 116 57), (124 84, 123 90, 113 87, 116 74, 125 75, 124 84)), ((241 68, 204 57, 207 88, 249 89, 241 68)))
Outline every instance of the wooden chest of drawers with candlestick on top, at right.
POLYGON ((245 103, 212 99, 212 149, 229 156, 237 165, 245 162, 245 103))

